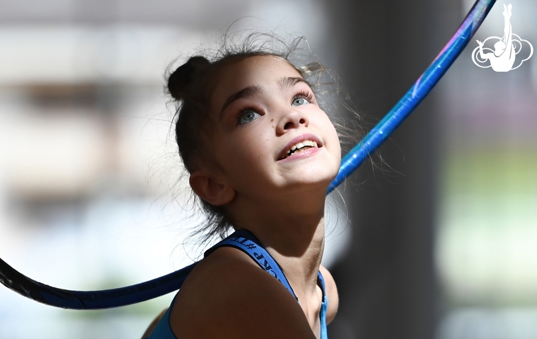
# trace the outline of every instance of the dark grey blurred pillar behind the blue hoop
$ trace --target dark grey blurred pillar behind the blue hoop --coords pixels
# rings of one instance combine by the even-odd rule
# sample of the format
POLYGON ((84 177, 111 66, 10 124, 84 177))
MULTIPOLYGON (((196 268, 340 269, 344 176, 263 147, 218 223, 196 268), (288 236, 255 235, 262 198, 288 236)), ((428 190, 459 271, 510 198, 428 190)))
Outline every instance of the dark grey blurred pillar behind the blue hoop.
MULTIPOLYGON (((333 1, 339 73, 366 130, 416 81, 460 23, 458 1, 333 1)), ((352 248, 333 269, 330 338, 433 338, 439 88, 346 187, 352 248)))

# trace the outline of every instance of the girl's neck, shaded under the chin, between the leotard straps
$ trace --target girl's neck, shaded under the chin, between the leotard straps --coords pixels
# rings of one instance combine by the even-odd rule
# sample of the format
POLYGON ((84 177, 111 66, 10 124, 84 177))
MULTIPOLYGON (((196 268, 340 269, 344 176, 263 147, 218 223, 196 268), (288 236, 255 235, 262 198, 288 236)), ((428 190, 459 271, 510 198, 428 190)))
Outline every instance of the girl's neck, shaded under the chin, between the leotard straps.
POLYGON ((233 225, 255 234, 280 264, 294 289, 313 293, 324 250, 325 195, 284 196, 286 198, 280 196, 274 201, 264 199, 262 202, 251 198, 235 200, 230 212, 241 212, 235 214, 240 217, 233 218, 233 225))

